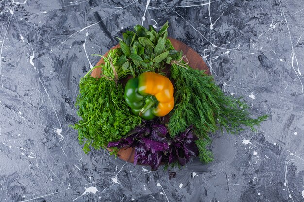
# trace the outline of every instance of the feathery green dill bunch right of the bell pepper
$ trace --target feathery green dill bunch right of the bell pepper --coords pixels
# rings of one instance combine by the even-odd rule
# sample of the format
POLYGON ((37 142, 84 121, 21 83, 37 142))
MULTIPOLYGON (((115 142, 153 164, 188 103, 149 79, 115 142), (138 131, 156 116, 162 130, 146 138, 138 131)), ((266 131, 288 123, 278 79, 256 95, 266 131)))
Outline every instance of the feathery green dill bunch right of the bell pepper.
POLYGON ((177 87, 174 95, 177 104, 168 123, 172 137, 189 125, 193 125, 197 135, 205 140, 210 140, 208 134, 219 128, 229 133, 242 131, 243 126, 255 131, 254 126, 268 117, 251 118, 249 106, 240 98, 226 96, 213 82, 213 77, 204 71, 172 63, 171 79, 177 87))

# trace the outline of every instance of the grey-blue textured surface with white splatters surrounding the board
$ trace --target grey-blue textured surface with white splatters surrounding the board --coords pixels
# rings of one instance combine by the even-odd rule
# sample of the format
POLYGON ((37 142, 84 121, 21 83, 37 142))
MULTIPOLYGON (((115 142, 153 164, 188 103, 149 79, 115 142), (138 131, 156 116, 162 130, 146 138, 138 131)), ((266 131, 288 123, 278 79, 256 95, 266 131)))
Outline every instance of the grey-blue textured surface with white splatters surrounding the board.
POLYGON ((304 202, 303 0, 0 0, 1 202, 304 202), (79 80, 135 24, 193 47, 257 133, 212 134, 176 177, 84 154, 79 80))

